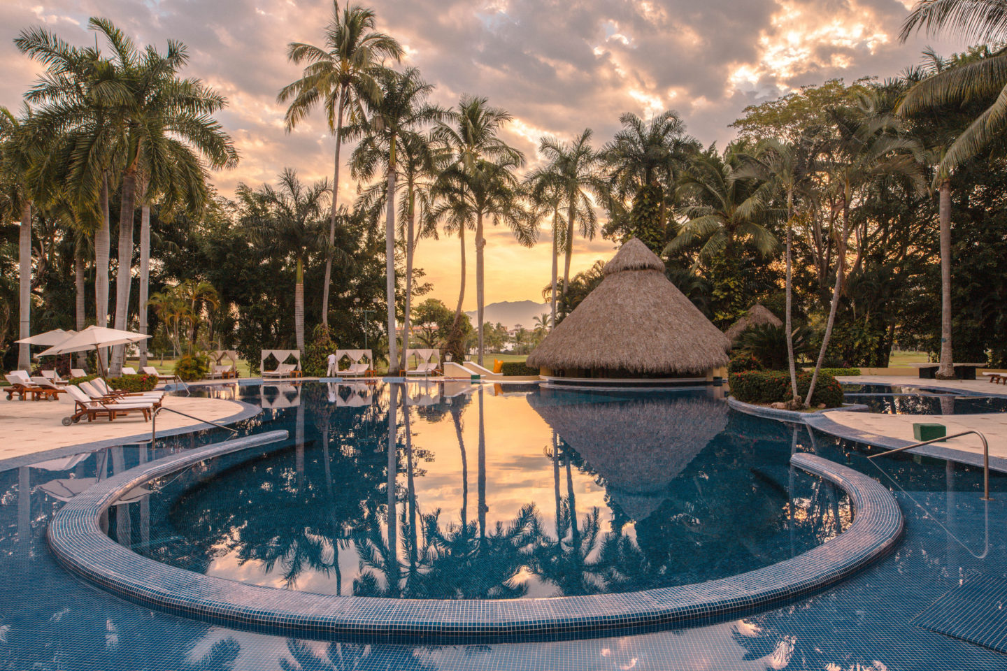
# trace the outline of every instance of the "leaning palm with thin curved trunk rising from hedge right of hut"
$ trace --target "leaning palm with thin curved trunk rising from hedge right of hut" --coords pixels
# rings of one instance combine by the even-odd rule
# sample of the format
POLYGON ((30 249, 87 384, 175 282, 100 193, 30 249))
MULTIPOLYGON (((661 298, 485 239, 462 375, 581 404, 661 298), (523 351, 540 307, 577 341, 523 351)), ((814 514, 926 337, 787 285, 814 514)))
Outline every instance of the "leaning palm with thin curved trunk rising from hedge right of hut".
POLYGON ((830 148, 829 184, 834 189, 842 209, 842 223, 836 238, 836 283, 833 286, 829 318, 826 321, 822 348, 815 363, 815 372, 808 387, 805 405, 810 405, 818 382, 819 371, 825 360, 836 322, 836 310, 845 277, 846 246, 853 232, 850 208, 857 202, 865 187, 873 181, 891 176, 901 176, 922 189, 923 159, 918 141, 900 133, 897 120, 887 114, 879 114, 871 107, 871 101, 855 111, 830 110, 829 116, 836 129, 836 136, 830 148))

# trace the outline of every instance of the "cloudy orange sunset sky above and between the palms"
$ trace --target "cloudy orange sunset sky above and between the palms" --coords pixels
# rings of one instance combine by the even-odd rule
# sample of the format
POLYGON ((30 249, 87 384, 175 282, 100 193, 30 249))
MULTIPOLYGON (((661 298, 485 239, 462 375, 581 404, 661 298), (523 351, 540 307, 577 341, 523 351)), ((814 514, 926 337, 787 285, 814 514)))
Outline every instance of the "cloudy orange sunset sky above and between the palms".
MULTIPOLYGON (((618 116, 681 113, 689 133, 723 146, 741 110, 796 87, 830 77, 896 74, 939 51, 965 44, 914 38, 897 43, 910 0, 375 0, 381 29, 403 44, 405 63, 437 85, 436 102, 450 106, 463 93, 485 96, 515 117, 506 139, 536 160, 540 136, 567 139, 584 128, 607 141, 618 116)), ((238 182, 258 186, 284 167, 305 179, 331 177, 334 141, 322 114, 294 133, 283 130, 281 87, 296 78, 289 41, 320 43, 331 3, 322 0, 50 0, 44 5, 5 0, 0 26, 0 105, 20 106, 37 65, 12 44, 18 31, 44 24, 70 42, 94 37, 89 16, 111 18, 141 43, 161 49, 171 37, 189 47, 186 75, 202 77, 230 99, 219 115, 235 137, 241 165, 215 173, 230 196, 238 182)), ((344 156, 346 155, 344 150, 344 156)), ((343 170, 340 202, 355 186, 343 170)), ((541 300, 549 281, 550 232, 532 249, 506 229, 489 230, 486 303, 541 300)), ((471 236, 469 236, 471 245, 471 236)), ((611 256, 600 237, 578 239, 574 271, 611 256)), ((470 246, 470 256, 474 249, 470 246)), ((423 240, 417 264, 434 296, 457 300, 455 238, 423 240)), ((469 263, 469 287, 474 263, 469 263)), ((311 291, 311 288, 308 288, 311 291)), ((474 309, 469 291, 466 309, 474 309)))

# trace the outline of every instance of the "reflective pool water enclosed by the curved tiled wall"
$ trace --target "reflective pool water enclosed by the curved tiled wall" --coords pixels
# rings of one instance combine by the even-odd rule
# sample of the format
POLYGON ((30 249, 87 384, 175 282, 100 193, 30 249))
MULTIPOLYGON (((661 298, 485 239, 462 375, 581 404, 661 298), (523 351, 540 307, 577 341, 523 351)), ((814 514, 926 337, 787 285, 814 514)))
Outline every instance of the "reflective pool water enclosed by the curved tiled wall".
POLYGON ((148 484, 109 534, 262 585, 522 599, 733 575, 851 521, 841 490, 792 469, 792 445, 716 390, 507 388, 241 387, 273 408, 254 433, 291 440, 148 484))

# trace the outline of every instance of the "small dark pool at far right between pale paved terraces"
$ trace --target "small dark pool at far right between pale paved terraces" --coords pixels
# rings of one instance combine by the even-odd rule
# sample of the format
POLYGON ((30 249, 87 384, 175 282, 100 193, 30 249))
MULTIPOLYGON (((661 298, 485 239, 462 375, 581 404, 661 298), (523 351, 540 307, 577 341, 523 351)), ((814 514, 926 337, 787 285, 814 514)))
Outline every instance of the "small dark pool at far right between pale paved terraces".
POLYGON ((843 384, 846 402, 884 414, 986 414, 1007 412, 1007 396, 960 393, 925 386, 843 384))

